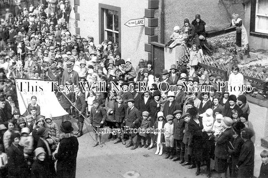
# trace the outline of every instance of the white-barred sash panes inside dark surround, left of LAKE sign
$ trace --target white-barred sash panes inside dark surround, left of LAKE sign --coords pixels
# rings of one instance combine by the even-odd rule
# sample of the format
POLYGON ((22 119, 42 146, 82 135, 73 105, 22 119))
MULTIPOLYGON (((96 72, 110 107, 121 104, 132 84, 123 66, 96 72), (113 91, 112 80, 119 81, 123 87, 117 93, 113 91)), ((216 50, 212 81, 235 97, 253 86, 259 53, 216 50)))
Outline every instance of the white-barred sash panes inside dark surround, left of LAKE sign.
POLYGON ((119 43, 118 12, 105 9, 104 18, 105 39, 113 43, 119 43))

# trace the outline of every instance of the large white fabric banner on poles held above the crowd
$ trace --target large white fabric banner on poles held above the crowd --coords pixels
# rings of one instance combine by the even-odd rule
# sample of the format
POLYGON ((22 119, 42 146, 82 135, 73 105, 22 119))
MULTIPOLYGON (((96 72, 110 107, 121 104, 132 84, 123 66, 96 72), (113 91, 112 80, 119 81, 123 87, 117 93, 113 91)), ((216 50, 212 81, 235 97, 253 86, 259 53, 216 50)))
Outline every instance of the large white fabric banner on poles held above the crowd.
POLYGON ((52 81, 16 79, 20 112, 27 112, 25 105, 28 107, 31 103, 31 97, 36 96, 41 115, 47 116, 51 114, 52 117, 59 117, 68 114, 60 105, 52 89, 52 85, 52 81))

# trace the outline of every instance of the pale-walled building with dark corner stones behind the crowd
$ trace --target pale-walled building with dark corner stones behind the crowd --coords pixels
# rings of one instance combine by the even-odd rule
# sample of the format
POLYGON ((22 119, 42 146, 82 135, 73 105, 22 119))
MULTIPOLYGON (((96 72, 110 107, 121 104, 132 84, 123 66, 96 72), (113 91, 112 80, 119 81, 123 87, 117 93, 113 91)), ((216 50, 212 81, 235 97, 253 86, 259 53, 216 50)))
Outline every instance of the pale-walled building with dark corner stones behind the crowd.
POLYGON ((206 30, 218 30, 230 26, 232 13, 244 17, 241 2, 230 4, 226 0, 70 0, 70 4, 74 7, 72 34, 93 36, 95 44, 106 39, 118 42, 122 58, 131 58, 134 66, 141 58, 151 58, 150 42, 167 42, 173 27, 182 27, 186 18, 192 22, 200 14, 206 30), (143 26, 126 24, 141 18, 143 26))

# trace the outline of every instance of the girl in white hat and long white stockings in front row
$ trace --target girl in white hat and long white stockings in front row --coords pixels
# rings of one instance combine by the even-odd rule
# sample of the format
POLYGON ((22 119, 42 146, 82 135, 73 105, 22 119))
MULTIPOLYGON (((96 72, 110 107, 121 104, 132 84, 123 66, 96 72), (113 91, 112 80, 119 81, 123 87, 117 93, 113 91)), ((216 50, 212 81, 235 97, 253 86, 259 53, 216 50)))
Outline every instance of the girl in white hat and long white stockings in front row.
POLYGON ((156 135, 156 152, 154 154, 162 155, 163 153, 162 142, 164 141, 164 134, 162 133, 162 130, 164 129, 164 125, 165 125, 164 113, 159 111, 157 113, 157 120, 153 124, 154 135, 156 135))

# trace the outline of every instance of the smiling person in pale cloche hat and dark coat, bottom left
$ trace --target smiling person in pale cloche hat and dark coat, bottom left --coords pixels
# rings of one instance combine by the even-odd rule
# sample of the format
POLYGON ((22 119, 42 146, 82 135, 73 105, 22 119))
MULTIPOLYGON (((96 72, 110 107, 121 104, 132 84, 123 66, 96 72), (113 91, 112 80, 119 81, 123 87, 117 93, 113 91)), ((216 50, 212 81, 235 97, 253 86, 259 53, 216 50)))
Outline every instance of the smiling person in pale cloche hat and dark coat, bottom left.
POLYGON ((31 169, 31 177, 49 177, 50 169, 45 161, 46 152, 43 147, 38 147, 34 150, 35 161, 31 169))

